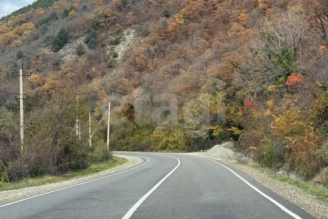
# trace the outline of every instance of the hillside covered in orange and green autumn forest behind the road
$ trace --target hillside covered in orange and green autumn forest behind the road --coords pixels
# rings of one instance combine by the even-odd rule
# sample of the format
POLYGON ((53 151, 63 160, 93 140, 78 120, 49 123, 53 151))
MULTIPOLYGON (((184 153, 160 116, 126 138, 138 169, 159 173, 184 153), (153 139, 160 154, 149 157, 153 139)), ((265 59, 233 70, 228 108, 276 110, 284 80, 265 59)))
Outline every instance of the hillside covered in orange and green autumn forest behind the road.
POLYGON ((0 176, 108 157, 107 125, 89 147, 88 115, 95 130, 111 99, 111 150, 235 141, 264 166, 328 186, 327 22, 325 0, 39 0, 0 22, 0 176), (21 58, 32 74, 24 148, 21 58))

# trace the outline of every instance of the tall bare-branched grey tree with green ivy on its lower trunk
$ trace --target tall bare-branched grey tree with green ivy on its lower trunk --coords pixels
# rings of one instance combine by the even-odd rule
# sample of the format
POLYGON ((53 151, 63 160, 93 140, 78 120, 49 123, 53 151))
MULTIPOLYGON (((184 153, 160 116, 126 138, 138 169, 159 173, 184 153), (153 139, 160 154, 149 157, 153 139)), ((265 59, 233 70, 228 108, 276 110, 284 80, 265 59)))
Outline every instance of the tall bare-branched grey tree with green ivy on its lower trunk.
POLYGON ((249 90, 256 93, 297 71, 295 62, 302 54, 307 30, 308 22, 290 12, 262 25, 251 45, 255 52, 250 74, 242 76, 248 77, 249 90))

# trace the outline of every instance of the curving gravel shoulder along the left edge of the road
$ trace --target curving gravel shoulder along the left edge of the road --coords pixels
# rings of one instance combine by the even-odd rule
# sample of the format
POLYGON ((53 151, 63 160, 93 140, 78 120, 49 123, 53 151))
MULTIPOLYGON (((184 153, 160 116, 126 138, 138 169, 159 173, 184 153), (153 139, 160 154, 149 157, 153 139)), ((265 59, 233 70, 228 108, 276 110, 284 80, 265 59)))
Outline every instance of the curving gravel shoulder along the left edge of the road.
POLYGON ((127 163, 116 166, 98 173, 86 175, 83 177, 75 178, 74 180, 68 181, 61 181, 57 183, 46 184, 42 186, 33 186, 33 187, 26 187, 23 189, 15 189, 15 190, 8 190, 0 192, 0 205, 8 204, 11 202, 15 202, 18 200, 22 200, 23 198, 31 197, 34 195, 42 194, 45 192, 53 191, 56 189, 64 188, 67 186, 72 186, 79 183, 84 183, 90 180, 95 180, 96 178, 107 176, 113 174, 115 172, 123 171, 134 166, 137 166, 144 162, 142 158, 135 157, 135 156, 124 156, 124 155, 115 155, 119 157, 124 157, 128 160, 127 163))

